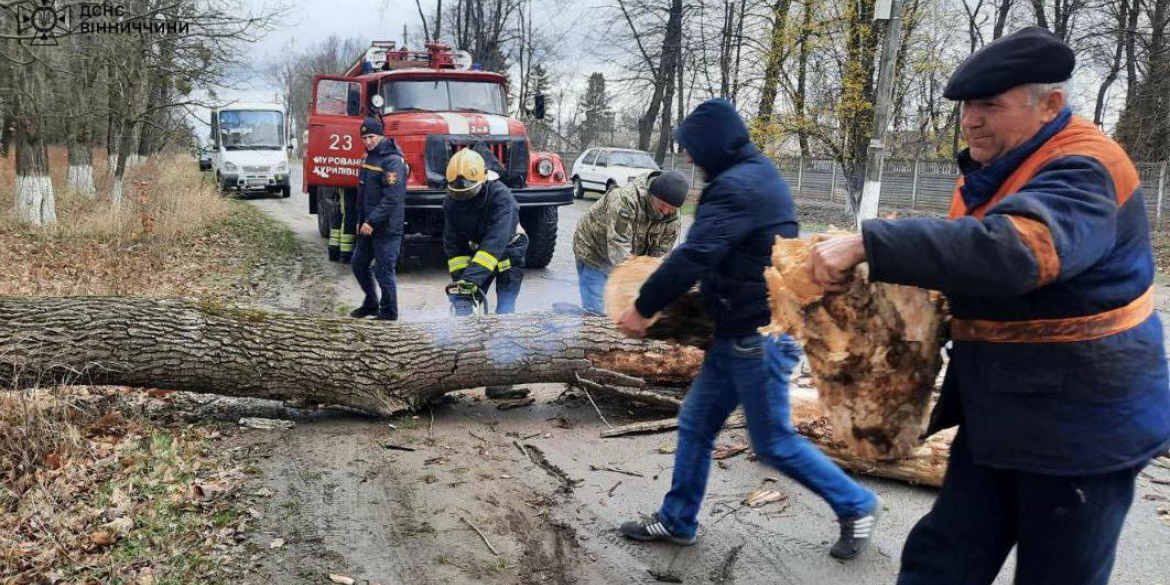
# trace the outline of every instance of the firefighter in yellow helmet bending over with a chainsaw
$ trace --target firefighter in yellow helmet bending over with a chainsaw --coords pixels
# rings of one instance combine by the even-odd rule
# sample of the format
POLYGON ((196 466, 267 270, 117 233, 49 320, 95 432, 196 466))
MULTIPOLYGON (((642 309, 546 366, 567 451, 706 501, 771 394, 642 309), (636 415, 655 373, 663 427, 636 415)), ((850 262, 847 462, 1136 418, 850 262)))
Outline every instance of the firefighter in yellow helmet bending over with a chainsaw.
MULTIPOLYGON (((479 152, 463 149, 450 157, 442 211, 443 252, 452 280, 447 296, 455 315, 473 315, 483 307, 493 281, 496 314, 514 312, 524 278, 528 236, 517 230, 519 206, 511 190, 488 172, 479 152)), ((488 398, 526 394, 526 390, 511 386, 488 387, 488 398)))

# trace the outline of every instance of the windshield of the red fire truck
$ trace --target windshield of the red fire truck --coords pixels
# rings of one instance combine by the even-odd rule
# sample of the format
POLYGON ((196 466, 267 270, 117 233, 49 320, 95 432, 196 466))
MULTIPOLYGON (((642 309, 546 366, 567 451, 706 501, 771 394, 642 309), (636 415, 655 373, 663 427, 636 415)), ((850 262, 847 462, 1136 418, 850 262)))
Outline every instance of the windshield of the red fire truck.
POLYGON ((381 84, 386 112, 477 111, 508 113, 504 89, 498 83, 454 80, 394 81, 381 84))

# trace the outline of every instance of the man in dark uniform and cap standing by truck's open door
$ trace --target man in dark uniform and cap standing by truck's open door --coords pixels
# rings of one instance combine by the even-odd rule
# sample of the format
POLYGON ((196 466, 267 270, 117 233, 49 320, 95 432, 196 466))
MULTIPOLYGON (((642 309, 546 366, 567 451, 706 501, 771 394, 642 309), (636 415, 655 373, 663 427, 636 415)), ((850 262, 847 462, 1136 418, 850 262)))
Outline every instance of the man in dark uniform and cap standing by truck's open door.
POLYGON ((380 119, 366 118, 362 123, 362 142, 369 154, 362 165, 355 205, 346 211, 358 226, 352 266, 365 301, 350 316, 398 321, 394 266, 402 246, 406 164, 394 142, 383 136, 380 119), (374 280, 381 289, 380 300, 374 280))

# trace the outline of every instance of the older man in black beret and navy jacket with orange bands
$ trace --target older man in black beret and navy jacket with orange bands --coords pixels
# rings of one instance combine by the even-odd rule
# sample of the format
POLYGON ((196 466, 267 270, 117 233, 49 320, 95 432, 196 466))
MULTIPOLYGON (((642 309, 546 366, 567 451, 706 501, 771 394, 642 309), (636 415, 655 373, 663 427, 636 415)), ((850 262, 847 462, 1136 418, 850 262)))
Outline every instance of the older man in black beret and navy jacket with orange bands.
POLYGON ((1145 463, 1170 445, 1170 388, 1137 171, 1065 104, 1072 49, 1025 28, 971 55, 945 97, 970 147, 951 221, 870 220, 819 243, 834 288, 945 292, 950 365, 928 434, 958 426, 935 505, 902 551, 901 585, 1109 581, 1145 463))

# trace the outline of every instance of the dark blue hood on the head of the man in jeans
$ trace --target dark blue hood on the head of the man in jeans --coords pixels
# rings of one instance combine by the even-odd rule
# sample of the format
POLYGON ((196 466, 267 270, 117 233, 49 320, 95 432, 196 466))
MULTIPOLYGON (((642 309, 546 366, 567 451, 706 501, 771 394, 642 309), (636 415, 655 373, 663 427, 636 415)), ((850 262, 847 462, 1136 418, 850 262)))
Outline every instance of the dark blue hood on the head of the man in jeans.
POLYGON ((748 126, 735 106, 723 98, 708 99, 695 108, 674 131, 674 139, 707 172, 708 180, 736 163, 756 154, 748 126))

